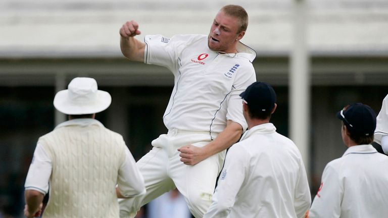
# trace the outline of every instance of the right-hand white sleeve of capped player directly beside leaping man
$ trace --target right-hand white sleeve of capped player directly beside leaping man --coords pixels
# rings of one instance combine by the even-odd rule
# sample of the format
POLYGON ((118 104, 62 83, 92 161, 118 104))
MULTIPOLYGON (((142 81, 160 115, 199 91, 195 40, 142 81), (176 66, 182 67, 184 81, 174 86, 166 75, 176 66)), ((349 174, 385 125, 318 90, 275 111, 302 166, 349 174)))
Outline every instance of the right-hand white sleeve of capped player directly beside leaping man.
POLYGON ((299 164, 299 178, 295 188, 294 208, 295 212, 297 213, 297 217, 304 217, 306 211, 310 208, 311 205, 311 194, 309 182, 307 180, 306 169, 302 158, 299 164))

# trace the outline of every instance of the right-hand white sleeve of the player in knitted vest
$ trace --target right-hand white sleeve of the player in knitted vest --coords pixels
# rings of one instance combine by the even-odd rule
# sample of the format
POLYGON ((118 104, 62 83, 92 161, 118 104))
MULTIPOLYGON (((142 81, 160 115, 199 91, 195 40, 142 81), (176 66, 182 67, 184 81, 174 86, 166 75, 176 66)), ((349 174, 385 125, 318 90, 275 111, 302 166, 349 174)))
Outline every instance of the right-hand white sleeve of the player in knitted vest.
POLYGON ((128 147, 125 146, 125 159, 119 169, 117 186, 124 197, 133 197, 146 193, 144 179, 136 166, 128 147))

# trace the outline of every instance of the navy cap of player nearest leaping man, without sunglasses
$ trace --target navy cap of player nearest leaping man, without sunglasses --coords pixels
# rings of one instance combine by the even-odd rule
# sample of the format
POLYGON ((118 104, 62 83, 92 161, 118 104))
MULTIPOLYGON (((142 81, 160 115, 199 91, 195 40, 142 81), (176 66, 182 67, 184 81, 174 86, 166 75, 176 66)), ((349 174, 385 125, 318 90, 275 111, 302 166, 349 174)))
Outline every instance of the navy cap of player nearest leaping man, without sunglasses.
POLYGON ((252 111, 272 111, 276 102, 276 93, 272 86, 265 82, 254 82, 240 94, 252 111))

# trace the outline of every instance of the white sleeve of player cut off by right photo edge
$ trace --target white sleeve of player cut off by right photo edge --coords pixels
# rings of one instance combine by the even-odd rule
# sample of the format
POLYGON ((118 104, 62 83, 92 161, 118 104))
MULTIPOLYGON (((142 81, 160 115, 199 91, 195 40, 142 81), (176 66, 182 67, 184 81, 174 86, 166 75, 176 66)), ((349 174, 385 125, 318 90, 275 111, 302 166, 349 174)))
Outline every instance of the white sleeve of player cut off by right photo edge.
POLYGON ((378 144, 381 144, 382 136, 388 136, 388 94, 382 100, 381 110, 378 113, 376 118, 376 130, 374 131, 374 141, 377 142, 378 144))

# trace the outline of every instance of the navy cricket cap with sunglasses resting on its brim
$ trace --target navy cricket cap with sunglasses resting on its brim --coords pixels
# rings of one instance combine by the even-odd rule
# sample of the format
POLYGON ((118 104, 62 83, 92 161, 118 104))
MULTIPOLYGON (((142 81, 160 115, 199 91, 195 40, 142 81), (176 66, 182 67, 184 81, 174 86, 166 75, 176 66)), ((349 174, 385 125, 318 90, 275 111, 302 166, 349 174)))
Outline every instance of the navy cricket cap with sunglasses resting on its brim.
POLYGON ((351 104, 336 116, 344 121, 350 133, 358 136, 373 135, 376 129, 376 113, 366 104, 351 104))

